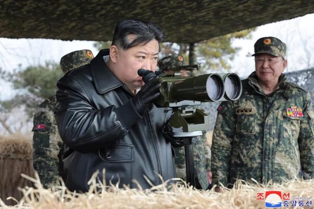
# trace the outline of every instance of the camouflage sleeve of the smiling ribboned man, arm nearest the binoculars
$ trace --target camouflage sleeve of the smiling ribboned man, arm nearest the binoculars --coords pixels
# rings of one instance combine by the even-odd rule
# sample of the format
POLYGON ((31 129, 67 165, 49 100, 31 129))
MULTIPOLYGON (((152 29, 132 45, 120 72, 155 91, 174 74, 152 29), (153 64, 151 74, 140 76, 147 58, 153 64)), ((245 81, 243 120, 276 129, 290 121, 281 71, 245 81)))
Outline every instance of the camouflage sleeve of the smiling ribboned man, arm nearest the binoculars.
POLYGON ((222 102, 218 107, 217 119, 211 145, 212 184, 228 184, 231 142, 235 134, 233 102, 222 102))

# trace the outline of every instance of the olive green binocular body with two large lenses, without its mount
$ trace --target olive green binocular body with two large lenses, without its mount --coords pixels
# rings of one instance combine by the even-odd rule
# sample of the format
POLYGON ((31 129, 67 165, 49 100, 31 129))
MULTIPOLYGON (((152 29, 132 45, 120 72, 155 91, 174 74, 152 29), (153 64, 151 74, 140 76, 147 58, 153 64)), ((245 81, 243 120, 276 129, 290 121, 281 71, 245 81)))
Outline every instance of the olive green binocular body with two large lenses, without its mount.
POLYGON ((240 78, 235 73, 210 73, 182 77, 178 70, 199 68, 199 65, 180 66, 174 74, 160 74, 160 95, 157 107, 198 105, 200 102, 236 100, 242 92, 240 78))

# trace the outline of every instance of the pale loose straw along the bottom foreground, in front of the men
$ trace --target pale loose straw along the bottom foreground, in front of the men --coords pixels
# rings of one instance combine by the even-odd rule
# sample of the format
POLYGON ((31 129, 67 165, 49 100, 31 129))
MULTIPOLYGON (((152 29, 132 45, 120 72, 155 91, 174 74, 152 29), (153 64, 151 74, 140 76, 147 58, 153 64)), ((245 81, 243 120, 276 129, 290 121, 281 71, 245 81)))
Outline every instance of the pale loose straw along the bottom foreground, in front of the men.
MULTIPOLYGON (((291 197, 314 199, 314 180, 286 181, 282 184, 251 185, 238 181, 234 188, 223 187, 222 193, 197 190, 186 184, 166 184, 151 189, 118 188, 116 185, 90 181, 90 190, 80 194, 65 186, 43 188, 40 181, 25 176, 36 185, 23 189, 24 198, 15 206, 20 209, 264 209, 264 201, 256 200, 257 192, 279 190, 291 197)), ((5 207, 0 202, 0 206, 5 207)))

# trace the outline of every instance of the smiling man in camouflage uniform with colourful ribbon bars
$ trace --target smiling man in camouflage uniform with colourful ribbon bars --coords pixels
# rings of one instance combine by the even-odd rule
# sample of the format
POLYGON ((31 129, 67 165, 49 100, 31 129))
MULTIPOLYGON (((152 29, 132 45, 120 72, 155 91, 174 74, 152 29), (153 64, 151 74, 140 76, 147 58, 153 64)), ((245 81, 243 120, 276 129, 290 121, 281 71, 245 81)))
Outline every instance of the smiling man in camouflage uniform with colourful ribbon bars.
MULTIPOLYGON (((235 179, 275 183, 314 177, 311 96, 282 73, 286 44, 264 37, 254 45, 255 71, 237 101, 218 107, 211 146, 213 184, 235 179)), ((219 191, 219 188, 215 189, 219 191)))

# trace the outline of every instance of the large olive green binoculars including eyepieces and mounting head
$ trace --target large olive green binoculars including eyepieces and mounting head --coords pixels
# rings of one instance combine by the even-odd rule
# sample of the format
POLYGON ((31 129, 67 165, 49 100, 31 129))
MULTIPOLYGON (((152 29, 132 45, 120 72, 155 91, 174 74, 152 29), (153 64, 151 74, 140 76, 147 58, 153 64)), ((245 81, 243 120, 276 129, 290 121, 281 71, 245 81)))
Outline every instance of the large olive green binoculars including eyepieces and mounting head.
POLYGON ((235 73, 210 73, 182 77, 181 70, 199 70, 200 65, 185 65, 164 73, 140 69, 144 83, 159 76, 160 95, 154 100, 157 107, 169 107, 173 114, 168 122, 168 132, 175 137, 200 136, 209 129, 209 116, 196 107, 201 102, 234 101, 242 93, 240 78, 235 73))

